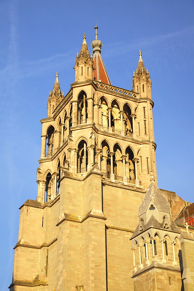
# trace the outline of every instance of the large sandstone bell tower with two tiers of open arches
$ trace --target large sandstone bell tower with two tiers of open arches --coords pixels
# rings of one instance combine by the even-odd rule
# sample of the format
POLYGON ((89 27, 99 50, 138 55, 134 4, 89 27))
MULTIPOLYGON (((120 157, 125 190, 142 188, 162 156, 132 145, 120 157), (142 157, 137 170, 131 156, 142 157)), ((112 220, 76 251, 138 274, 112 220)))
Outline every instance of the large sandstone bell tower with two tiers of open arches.
MULTIPOLYGON (((11 291, 134 290, 130 238, 151 169, 157 177, 151 81, 140 51, 133 89, 112 86, 97 29, 94 56, 84 34, 70 91, 61 93, 56 73, 48 97, 38 195, 20 207, 11 291)), ((162 193, 178 215, 184 201, 162 193)))

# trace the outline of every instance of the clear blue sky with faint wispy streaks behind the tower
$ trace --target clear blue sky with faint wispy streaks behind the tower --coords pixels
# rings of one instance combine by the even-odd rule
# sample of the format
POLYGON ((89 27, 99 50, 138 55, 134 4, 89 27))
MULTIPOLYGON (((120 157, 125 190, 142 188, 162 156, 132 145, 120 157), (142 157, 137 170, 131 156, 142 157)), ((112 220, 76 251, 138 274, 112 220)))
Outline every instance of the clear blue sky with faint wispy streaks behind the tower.
POLYGON ((141 49, 155 102, 158 185, 194 202, 194 1, 1 0, 0 11, 0 290, 7 290, 18 208, 37 196, 39 120, 46 117, 57 71, 61 90, 69 91, 83 33, 90 47, 96 17, 101 55, 114 86, 132 88, 141 49))

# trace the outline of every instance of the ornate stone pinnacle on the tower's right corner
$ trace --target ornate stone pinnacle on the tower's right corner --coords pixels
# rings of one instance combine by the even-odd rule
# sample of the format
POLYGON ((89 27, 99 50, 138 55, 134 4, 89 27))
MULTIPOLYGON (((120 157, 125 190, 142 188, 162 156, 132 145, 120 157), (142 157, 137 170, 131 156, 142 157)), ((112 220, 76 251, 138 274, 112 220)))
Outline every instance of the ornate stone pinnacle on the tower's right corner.
POLYGON ((148 69, 146 70, 143 64, 141 51, 139 51, 139 62, 136 72, 133 72, 133 90, 140 94, 141 97, 152 98, 151 95, 151 79, 148 69))

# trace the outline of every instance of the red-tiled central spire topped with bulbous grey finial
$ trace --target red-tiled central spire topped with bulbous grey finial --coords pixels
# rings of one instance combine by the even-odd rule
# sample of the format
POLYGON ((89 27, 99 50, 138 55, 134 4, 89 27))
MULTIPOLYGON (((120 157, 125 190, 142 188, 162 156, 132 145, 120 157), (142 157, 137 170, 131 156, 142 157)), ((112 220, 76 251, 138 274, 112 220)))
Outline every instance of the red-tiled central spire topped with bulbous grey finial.
POLYGON ((91 43, 91 47, 93 48, 92 52, 94 54, 94 68, 95 68, 94 80, 111 85, 109 76, 107 74, 107 70, 103 63, 103 59, 100 55, 102 52, 101 47, 103 46, 103 44, 100 40, 98 40, 98 33, 97 33, 98 26, 95 26, 94 29, 96 29, 96 34, 95 34, 96 38, 91 43))

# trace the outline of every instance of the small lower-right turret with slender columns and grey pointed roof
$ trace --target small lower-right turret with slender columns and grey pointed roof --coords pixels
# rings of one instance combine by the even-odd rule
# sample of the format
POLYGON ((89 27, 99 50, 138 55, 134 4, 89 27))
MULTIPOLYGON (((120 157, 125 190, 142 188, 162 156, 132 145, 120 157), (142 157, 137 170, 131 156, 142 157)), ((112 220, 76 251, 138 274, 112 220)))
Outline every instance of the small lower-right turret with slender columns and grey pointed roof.
POLYGON ((134 290, 139 290, 142 282, 148 287, 145 290, 156 290, 155 284, 161 276, 161 271, 163 278, 167 277, 169 281, 161 280, 161 289, 157 290, 168 290, 171 278, 176 282, 175 286, 182 285, 180 252, 176 246, 180 230, 171 219, 169 202, 154 180, 152 175, 150 186, 139 207, 139 225, 130 238, 134 290))

